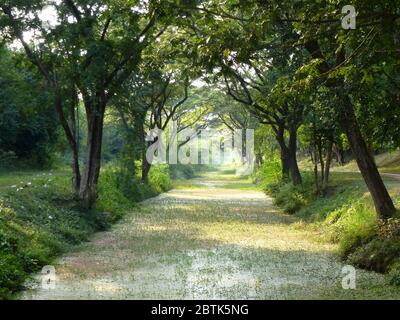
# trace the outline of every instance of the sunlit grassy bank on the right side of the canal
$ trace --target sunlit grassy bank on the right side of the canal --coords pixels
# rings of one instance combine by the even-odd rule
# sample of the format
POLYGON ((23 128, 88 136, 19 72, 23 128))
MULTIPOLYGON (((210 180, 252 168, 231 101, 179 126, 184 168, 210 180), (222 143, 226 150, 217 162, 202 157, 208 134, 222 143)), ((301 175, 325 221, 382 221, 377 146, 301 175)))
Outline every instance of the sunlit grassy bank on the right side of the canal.
MULTIPOLYGON (((306 228, 317 230, 321 239, 338 244, 340 257, 349 264, 391 274, 400 284, 400 216, 383 223, 376 218, 373 202, 359 173, 332 172, 326 196, 316 194, 312 173, 303 172, 303 184, 280 181, 276 162, 265 165, 257 180, 275 204, 301 217, 306 228)), ((400 182, 385 178, 400 206, 400 182)))

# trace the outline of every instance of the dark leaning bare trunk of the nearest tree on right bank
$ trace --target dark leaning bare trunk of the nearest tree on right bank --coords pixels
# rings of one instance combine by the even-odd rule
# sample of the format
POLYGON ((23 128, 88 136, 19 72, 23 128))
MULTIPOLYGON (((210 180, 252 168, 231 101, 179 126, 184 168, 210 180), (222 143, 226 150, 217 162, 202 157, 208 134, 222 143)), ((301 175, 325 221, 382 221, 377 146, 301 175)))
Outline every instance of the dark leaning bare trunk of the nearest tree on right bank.
POLYGON ((378 217, 387 219, 393 216, 396 209, 393 201, 383 183, 375 161, 361 135, 360 128, 354 114, 353 104, 350 98, 343 96, 344 110, 341 114, 343 130, 349 140, 350 148, 356 158, 360 172, 371 193, 378 217))

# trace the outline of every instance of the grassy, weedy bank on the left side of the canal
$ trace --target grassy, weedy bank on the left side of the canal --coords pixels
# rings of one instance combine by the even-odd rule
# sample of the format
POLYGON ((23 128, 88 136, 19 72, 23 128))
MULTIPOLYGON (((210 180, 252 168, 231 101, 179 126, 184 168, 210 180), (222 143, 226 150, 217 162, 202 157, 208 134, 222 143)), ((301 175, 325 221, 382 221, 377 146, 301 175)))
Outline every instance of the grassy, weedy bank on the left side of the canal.
POLYGON ((171 187, 168 167, 152 168, 148 184, 128 185, 110 166, 102 171, 96 208, 84 211, 70 179, 69 170, 0 173, 0 299, 12 298, 31 273, 107 229, 138 201, 171 187))

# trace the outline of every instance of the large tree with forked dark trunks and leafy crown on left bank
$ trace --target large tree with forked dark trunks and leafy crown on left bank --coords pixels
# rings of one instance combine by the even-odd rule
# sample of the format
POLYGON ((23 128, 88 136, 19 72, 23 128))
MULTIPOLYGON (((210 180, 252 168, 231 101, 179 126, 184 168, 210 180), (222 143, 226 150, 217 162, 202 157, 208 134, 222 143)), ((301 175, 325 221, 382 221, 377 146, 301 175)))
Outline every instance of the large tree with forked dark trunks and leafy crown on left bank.
POLYGON ((0 9, 3 33, 21 43, 53 93, 73 154, 74 189, 78 191, 79 185, 79 198, 89 208, 96 199, 106 107, 135 72, 144 48, 165 31, 177 13, 168 11, 171 7, 166 1, 7 0, 0 9), (53 24, 43 25, 39 18, 45 6, 57 17, 53 24), (27 30, 34 30, 30 43, 24 38, 27 30), (82 96, 88 128, 82 176, 76 137, 64 105, 66 95, 76 92, 82 96))

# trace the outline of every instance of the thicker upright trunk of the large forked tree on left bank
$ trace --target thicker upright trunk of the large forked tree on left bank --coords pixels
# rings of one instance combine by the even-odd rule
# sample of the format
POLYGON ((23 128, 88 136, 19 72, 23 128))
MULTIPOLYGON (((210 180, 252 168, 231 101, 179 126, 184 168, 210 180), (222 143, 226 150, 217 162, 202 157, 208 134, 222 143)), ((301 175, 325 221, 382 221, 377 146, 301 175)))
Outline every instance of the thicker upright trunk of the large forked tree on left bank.
POLYGON ((85 168, 81 179, 79 197, 87 209, 93 207, 97 197, 97 182, 101 165, 104 110, 104 103, 99 103, 97 106, 86 106, 88 137, 85 168))

